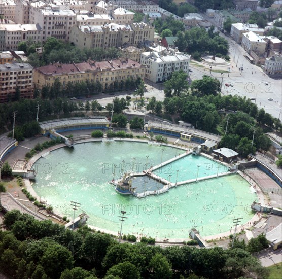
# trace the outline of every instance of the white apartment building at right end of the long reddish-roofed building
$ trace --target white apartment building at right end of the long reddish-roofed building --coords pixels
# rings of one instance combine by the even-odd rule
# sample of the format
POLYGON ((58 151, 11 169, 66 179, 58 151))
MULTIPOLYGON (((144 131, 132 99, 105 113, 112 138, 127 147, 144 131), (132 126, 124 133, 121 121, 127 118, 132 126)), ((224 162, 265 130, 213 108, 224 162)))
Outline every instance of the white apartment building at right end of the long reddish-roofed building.
POLYGON ((190 55, 167 48, 162 52, 143 52, 140 63, 146 65, 145 78, 152 82, 162 82, 174 71, 181 69, 189 74, 190 55))

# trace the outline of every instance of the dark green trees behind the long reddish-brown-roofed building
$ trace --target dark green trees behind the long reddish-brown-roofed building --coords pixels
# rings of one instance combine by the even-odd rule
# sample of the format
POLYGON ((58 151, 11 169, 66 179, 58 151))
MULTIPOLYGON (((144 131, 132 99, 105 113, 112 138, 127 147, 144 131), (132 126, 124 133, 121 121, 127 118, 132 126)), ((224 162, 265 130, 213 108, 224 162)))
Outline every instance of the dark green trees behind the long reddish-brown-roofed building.
POLYGON ((39 47, 39 45, 32 42, 21 42, 18 46, 19 50, 26 52, 28 63, 33 67, 40 67, 53 62, 69 63, 72 61, 79 63, 86 61, 88 58, 101 61, 102 59, 115 59, 122 56, 120 50, 115 47, 80 49, 54 37, 47 38, 43 46, 42 56, 39 56, 36 52, 36 47, 39 47))

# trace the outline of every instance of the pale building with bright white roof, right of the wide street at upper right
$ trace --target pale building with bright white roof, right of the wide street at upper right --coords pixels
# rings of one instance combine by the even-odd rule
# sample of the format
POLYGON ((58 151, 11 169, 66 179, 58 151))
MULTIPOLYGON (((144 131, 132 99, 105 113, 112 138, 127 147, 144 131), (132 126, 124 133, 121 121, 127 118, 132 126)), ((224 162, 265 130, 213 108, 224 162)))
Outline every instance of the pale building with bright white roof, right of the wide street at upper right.
POLYGON ((246 51, 253 51, 262 56, 265 53, 266 41, 253 31, 243 33, 242 46, 246 51))

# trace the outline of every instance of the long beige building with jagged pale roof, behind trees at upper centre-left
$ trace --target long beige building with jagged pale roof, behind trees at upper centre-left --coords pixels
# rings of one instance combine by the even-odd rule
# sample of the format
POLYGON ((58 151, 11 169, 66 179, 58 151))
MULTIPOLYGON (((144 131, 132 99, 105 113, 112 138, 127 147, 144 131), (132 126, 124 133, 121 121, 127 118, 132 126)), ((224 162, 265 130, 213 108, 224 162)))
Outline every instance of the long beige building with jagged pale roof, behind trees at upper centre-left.
POLYGON ((80 48, 121 47, 127 43, 137 46, 145 40, 154 40, 154 27, 143 22, 130 25, 75 25, 69 33, 69 41, 80 48))

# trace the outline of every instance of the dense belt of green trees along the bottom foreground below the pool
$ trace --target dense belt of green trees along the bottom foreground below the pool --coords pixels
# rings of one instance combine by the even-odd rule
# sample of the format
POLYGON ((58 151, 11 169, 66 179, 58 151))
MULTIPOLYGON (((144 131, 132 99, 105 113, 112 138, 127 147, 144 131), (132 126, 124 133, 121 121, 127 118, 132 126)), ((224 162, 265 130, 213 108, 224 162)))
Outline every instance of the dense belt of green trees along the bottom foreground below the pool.
POLYGON ((120 244, 108 234, 77 232, 38 221, 13 210, 0 231, 0 268, 13 278, 267 278, 267 270, 248 251, 162 249, 144 243, 120 244))

